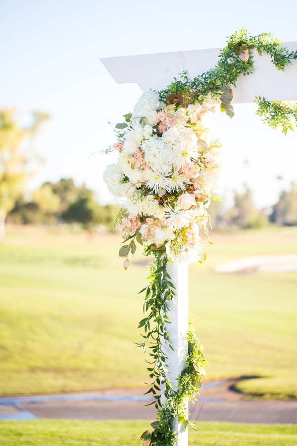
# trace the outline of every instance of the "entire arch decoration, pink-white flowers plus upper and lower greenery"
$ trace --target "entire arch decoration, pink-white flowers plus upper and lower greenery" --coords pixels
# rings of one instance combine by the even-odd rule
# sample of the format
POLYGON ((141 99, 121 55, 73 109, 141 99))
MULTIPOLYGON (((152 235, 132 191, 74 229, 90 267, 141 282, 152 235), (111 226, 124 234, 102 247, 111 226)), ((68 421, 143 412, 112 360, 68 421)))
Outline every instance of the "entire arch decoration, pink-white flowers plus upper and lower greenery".
MULTIPOLYGON (((111 193, 125 201, 116 223, 123 230, 125 242, 119 255, 123 266, 129 267, 128 256, 134 255, 135 241, 144 244, 145 254, 153 255, 150 283, 145 292, 145 318, 139 328, 144 329, 143 342, 138 346, 149 351, 148 371, 152 380, 151 392, 157 408, 153 430, 143 433, 144 446, 175 446, 177 434, 174 419, 185 427, 188 412, 185 399, 195 401, 205 374, 208 360, 203 355, 193 323, 189 324, 187 365, 174 390, 168 379, 164 342, 170 342, 166 325, 169 301, 174 300, 174 285, 167 272, 167 262, 200 262, 206 254, 202 233, 207 233, 210 222, 207 209, 210 200, 218 200, 213 191, 219 173, 220 142, 211 137, 205 116, 213 112, 205 102, 210 97, 220 109, 233 117, 232 86, 240 75, 254 71, 252 51, 271 56, 278 70, 284 70, 297 51, 288 52, 272 34, 250 36, 242 29, 228 39, 214 68, 190 79, 183 72, 167 89, 144 93, 133 113, 124 115, 125 122, 116 124, 117 142, 106 152, 116 150, 118 162, 104 172, 104 180, 111 193), (162 386, 162 389, 161 389, 162 386), (161 404, 160 393, 165 396, 161 404)), ((280 127, 286 134, 297 122, 296 106, 271 103, 256 97, 257 114, 273 128, 280 127)), ((211 224, 210 224, 211 227, 211 224)))

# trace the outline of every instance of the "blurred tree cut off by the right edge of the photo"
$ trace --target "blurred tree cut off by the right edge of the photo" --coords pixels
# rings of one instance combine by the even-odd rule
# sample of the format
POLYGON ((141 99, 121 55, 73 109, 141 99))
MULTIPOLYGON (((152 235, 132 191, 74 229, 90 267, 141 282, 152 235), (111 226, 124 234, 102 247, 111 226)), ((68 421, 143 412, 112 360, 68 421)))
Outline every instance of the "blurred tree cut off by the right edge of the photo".
POLYGON ((297 187, 292 184, 291 190, 283 190, 279 201, 273 206, 270 222, 279 226, 297 225, 297 187))

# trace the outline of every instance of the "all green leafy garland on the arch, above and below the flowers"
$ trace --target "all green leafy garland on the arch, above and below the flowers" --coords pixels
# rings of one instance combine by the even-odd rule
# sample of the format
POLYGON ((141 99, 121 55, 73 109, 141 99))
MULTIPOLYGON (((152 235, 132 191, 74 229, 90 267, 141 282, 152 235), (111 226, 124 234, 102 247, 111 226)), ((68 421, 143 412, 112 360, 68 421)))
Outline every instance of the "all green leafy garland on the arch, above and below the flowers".
MULTIPOLYGON (((187 107, 189 104, 203 104, 207 97, 220 102, 222 112, 230 118, 234 116, 231 105, 233 99, 232 86, 236 87, 238 78, 252 74, 254 71, 252 50, 256 50, 261 56, 267 53, 271 56, 271 61, 278 70, 284 70, 286 66, 297 59, 297 51, 289 52, 280 46, 281 41, 275 39, 270 33, 261 33, 258 36, 251 36, 246 29, 237 31, 227 41, 227 46, 222 49, 219 61, 214 68, 190 79, 187 71, 181 73, 180 78, 174 79, 167 89, 160 91, 160 100, 167 104, 175 104, 177 107, 187 107)), ((280 127, 286 134, 287 130, 294 130, 293 124, 297 124, 297 106, 281 102, 268 102, 265 98, 256 97, 258 105, 256 114, 273 128, 280 127)), ((130 115, 125 115, 127 121, 130 115)), ((127 124, 117 124, 120 131, 127 124)), ((120 256, 127 258, 129 252, 134 254, 136 250, 135 238, 142 244, 141 236, 137 232, 125 241, 130 240, 129 245, 125 245, 120 250, 120 256)), ((167 256, 165 247, 155 249, 148 246, 146 255, 153 255, 154 261, 150 265, 149 285, 141 292, 145 292, 144 313, 147 314, 139 323, 139 328, 144 329, 142 335, 144 340, 137 345, 148 352, 151 361, 148 372, 151 393, 157 408, 157 420, 151 424, 153 430, 147 430, 141 438, 144 446, 175 446, 177 444, 177 434, 172 431, 172 422, 175 418, 182 423, 185 428, 190 424, 188 421, 188 411, 185 409, 186 399, 195 401, 196 395, 201 385, 204 375, 204 367, 208 360, 202 353, 202 346, 197 338, 194 325, 190 321, 188 332, 189 350, 187 355, 187 366, 179 377, 178 390, 174 390, 166 375, 166 355, 162 350, 162 340, 171 348, 170 336, 166 329, 169 324, 167 316, 168 305, 174 299, 174 285, 167 272, 167 256), (164 388, 166 403, 161 405, 161 385, 164 388)), ((126 260, 128 268, 128 260, 126 260)))

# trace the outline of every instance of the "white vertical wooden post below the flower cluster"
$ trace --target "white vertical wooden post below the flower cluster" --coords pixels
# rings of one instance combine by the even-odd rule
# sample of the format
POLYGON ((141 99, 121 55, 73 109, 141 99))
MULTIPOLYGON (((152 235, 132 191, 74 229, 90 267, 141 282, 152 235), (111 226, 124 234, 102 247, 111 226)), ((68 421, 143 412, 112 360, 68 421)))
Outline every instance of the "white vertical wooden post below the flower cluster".
MULTIPOLYGON (((167 263, 167 271, 175 286, 175 303, 169 304, 169 320, 167 331, 175 350, 168 344, 163 344, 163 352, 167 356, 168 375, 167 378, 174 390, 178 388, 178 377, 186 367, 186 356, 188 353, 188 318, 189 318, 189 298, 188 298, 188 264, 187 263, 167 263)), ((161 388, 164 391, 164 387, 161 388)), ((166 403, 166 398, 162 395, 161 403, 166 403)), ((188 401, 185 400, 185 408, 188 410, 188 401)), ((178 434, 178 445, 188 445, 188 429, 183 429, 183 425, 175 419, 172 430, 178 434)))

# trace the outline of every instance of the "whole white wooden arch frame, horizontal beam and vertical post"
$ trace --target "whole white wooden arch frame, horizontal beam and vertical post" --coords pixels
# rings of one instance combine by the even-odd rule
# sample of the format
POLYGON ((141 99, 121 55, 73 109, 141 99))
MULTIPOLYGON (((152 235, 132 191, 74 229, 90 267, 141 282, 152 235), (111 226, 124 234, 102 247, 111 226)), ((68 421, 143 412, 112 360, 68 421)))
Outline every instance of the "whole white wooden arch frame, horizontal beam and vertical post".
MULTIPOLYGON (((282 43, 282 47, 296 50, 297 42, 282 43)), ((148 91, 165 89, 181 71, 189 71, 191 77, 207 71, 217 63, 219 52, 220 49, 181 51, 100 60, 117 83, 135 82, 143 91, 148 91)), ((250 76, 242 76, 237 82, 237 88, 232 88, 232 103, 252 103, 255 96, 264 96, 267 101, 297 100, 297 61, 292 61, 285 71, 278 71, 271 63, 270 56, 263 54, 260 57, 256 52, 253 56, 255 72, 250 76)), ((211 100, 208 102, 211 103, 211 100)), ((166 346, 164 349, 168 356, 168 378, 176 388, 176 378, 185 367, 187 355, 188 265, 168 264, 168 268, 177 290, 177 306, 173 303, 170 305, 171 324, 168 325, 175 351, 166 346)), ((187 446, 188 430, 182 432, 177 420, 173 429, 178 432, 180 441, 177 445, 187 446)))

